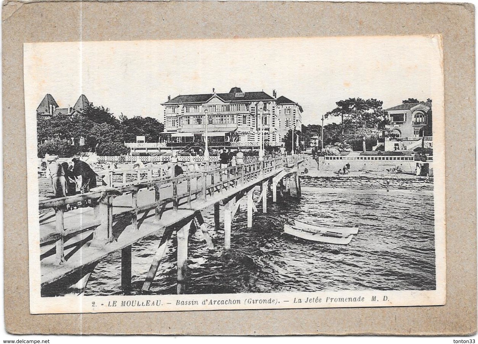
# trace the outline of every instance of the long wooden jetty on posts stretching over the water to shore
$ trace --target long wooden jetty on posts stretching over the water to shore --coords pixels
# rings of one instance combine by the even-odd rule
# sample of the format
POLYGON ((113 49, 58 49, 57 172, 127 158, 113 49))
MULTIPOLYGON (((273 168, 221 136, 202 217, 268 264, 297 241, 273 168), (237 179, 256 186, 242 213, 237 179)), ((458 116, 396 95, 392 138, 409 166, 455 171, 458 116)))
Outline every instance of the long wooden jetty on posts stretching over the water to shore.
POLYGON ((144 237, 159 235, 158 249, 142 290, 150 289, 173 234, 177 237, 177 292, 185 292, 188 237, 193 222, 213 249, 201 211, 214 205, 215 228, 219 212, 224 215, 224 247, 230 248, 231 223, 239 205, 247 207, 247 226, 257 211, 253 192, 260 189, 259 202, 267 212, 267 191, 273 201, 285 188, 300 196, 299 165, 303 155, 272 158, 218 168, 206 164, 202 171, 171 176, 171 165, 137 170, 113 170, 102 174, 107 186, 87 194, 42 200, 40 216, 40 265, 42 292, 82 293, 99 261, 121 250, 121 287, 131 289, 131 245, 144 237), (279 183, 281 183, 279 185, 279 183), (282 187, 281 187, 282 186, 282 187), (90 207, 71 209, 78 202, 90 207), (70 210, 67 210, 70 209, 70 210))

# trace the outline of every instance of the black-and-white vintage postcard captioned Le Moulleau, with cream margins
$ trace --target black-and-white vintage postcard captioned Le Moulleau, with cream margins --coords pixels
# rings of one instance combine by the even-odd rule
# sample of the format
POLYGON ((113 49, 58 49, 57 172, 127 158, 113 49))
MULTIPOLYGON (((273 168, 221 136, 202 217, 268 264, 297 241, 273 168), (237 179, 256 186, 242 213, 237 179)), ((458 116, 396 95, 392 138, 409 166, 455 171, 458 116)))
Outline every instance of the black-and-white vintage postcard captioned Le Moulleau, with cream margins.
POLYGON ((439 35, 23 48, 31 313, 445 304, 439 35))

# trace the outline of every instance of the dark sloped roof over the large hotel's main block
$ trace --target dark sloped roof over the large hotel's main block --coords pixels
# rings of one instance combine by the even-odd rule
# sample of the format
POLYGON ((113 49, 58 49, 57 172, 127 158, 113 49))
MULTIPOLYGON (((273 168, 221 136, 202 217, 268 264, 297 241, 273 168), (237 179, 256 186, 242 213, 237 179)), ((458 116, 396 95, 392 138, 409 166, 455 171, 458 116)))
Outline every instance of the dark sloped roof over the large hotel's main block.
MULTIPOLYGON (((234 90, 236 87, 231 89, 234 90)), ((237 87, 239 90, 240 88, 237 87)), ((274 100, 271 96, 267 93, 261 92, 234 92, 234 93, 217 93, 217 97, 221 98, 225 102, 244 102, 244 101, 254 101, 254 100, 274 100)), ((161 105, 175 105, 175 104, 197 104, 197 103, 205 103, 211 97, 213 97, 213 93, 207 94, 199 94, 199 95, 185 95, 185 96, 177 96, 173 99, 161 104, 161 105)))

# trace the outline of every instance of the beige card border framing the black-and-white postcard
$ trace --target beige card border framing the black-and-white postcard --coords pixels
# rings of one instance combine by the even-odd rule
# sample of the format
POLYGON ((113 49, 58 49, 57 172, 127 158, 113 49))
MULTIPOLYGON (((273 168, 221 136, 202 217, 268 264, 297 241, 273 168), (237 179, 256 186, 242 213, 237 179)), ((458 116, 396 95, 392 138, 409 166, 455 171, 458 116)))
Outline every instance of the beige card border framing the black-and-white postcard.
POLYGON ((4 280, 7 330, 11 333, 130 334, 474 333, 476 165, 473 149, 473 47, 474 8, 469 4, 265 1, 4 4, 4 280), (194 20, 191 20, 192 16, 194 20), (83 29, 80 30, 80 27, 83 29), (30 314, 26 297, 29 290, 27 193, 26 183, 19 183, 26 176, 22 43, 431 33, 441 33, 444 42, 445 143, 448 154, 445 157, 445 306, 30 314), (120 323, 121 327, 114 325, 120 323))

